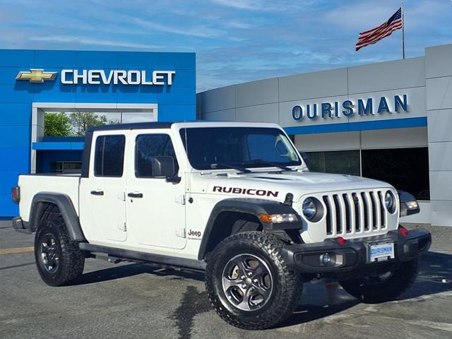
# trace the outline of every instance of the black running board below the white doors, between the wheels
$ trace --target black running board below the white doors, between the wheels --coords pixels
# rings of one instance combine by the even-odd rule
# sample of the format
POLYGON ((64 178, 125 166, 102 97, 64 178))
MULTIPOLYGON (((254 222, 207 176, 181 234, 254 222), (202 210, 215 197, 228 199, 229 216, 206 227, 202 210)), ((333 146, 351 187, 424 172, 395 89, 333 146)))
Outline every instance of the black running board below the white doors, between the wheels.
POLYGON ((102 252, 116 258, 124 258, 131 261, 145 261, 155 263, 158 266, 170 266, 176 268, 186 268, 189 270, 206 270, 206 262, 201 260, 177 258, 175 256, 162 256, 161 254, 150 254, 129 249, 116 249, 113 247, 99 246, 81 242, 78 247, 82 251, 102 252))

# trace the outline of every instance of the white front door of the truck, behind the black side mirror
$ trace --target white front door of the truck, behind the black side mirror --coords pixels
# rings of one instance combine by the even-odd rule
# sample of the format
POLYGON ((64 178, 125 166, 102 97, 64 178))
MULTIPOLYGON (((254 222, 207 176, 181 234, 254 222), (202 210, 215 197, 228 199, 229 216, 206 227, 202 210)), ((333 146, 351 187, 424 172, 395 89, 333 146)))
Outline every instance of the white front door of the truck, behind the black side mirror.
POLYGON ((174 160, 171 137, 162 131, 134 130, 130 135, 129 175, 126 184, 128 233, 138 244, 183 249, 185 239, 185 182, 167 182, 159 175, 160 160, 174 160))

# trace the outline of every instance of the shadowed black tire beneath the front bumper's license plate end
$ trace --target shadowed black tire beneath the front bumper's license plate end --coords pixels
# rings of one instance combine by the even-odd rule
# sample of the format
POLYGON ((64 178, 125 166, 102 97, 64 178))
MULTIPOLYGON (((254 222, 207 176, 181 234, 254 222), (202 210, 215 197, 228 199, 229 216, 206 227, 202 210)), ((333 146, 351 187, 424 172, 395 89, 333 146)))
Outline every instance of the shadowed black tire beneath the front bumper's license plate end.
POLYGON ((419 272, 417 258, 412 261, 400 263, 400 266, 391 271, 388 278, 375 281, 371 276, 344 280, 340 285, 353 297, 367 304, 378 304, 396 299, 415 282, 419 272), (374 280, 374 281, 372 281, 374 280))

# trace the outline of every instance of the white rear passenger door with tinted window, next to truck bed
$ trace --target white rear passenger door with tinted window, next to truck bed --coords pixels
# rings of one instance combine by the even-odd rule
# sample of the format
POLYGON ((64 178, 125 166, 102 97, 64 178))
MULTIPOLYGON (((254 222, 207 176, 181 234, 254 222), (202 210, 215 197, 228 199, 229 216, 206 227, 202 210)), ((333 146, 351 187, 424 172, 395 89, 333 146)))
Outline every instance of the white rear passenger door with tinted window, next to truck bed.
POLYGON ((126 146, 129 131, 93 135, 88 178, 80 183, 80 219, 91 242, 124 242, 126 233, 126 146))

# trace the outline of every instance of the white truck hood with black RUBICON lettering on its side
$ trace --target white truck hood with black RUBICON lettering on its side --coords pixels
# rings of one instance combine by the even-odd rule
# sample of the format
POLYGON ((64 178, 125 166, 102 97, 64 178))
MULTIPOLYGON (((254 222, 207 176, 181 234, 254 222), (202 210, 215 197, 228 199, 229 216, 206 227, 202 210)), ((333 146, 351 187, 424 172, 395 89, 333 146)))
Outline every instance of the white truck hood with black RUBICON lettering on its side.
POLYGON ((346 174, 316 172, 252 172, 199 174, 192 177, 193 193, 221 194, 242 198, 271 198, 284 201, 294 195, 294 201, 306 194, 332 191, 392 188, 386 182, 346 174))

